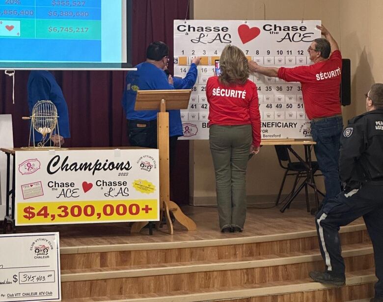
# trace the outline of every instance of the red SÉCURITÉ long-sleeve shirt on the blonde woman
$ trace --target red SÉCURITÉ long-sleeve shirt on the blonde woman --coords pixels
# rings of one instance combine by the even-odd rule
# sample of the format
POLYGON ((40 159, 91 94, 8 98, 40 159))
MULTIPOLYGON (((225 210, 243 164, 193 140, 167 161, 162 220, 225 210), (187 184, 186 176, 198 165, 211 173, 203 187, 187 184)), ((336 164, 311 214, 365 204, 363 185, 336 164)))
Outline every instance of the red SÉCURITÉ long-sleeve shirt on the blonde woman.
POLYGON ((244 85, 225 86, 218 77, 211 77, 206 84, 209 102, 210 125, 251 125, 252 144, 261 143, 261 115, 258 106, 257 86, 247 80, 244 85))

